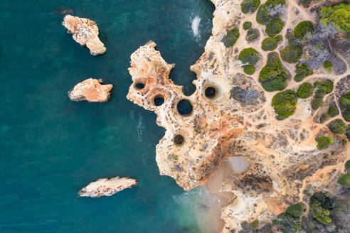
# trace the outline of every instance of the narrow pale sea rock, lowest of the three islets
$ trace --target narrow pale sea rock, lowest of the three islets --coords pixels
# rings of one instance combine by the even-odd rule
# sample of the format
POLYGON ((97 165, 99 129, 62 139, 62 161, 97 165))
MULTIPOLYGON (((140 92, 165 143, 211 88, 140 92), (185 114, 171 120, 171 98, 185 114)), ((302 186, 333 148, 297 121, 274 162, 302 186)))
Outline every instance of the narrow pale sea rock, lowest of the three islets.
POLYGON ((110 179, 101 178, 80 190, 79 195, 81 197, 111 196, 126 188, 132 188, 134 185, 137 185, 137 180, 133 178, 120 178, 119 176, 110 179))

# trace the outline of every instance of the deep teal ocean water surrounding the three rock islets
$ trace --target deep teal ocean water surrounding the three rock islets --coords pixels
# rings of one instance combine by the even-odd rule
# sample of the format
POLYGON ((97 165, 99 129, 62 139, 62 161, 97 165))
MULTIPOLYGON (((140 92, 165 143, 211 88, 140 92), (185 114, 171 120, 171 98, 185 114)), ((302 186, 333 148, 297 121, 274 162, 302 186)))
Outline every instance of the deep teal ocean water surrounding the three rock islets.
POLYGON ((125 96, 129 56, 148 40, 191 94, 189 66, 211 35, 213 10, 209 0, 0 1, 0 232, 202 232, 192 200, 203 190, 186 193, 159 175, 164 129, 125 96), (97 22, 105 55, 91 56, 66 33, 71 11, 97 22), (70 102, 67 92, 89 77, 114 86, 110 102, 70 102), (78 196, 115 176, 139 185, 78 196))

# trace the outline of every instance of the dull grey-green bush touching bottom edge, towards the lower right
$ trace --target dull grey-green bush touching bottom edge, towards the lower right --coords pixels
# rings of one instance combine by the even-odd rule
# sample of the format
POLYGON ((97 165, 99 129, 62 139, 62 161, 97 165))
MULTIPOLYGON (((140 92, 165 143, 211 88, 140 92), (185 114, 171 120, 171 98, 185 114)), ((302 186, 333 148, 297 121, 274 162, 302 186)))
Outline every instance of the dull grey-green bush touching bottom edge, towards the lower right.
POLYGON ((302 228, 300 217, 305 210, 306 207, 302 202, 291 205, 285 212, 278 215, 275 220, 272 220, 272 224, 277 225, 280 231, 284 233, 298 232, 302 228))

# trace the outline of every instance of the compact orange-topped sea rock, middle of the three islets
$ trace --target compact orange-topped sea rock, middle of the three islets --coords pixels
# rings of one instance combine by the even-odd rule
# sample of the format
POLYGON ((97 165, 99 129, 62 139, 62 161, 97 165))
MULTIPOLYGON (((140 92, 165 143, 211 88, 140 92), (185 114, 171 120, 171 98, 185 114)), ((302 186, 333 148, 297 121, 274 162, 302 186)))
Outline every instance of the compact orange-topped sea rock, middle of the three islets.
POLYGON ((110 90, 113 85, 101 85, 102 80, 89 78, 79 82, 68 92, 68 97, 72 101, 107 102, 110 99, 110 90))

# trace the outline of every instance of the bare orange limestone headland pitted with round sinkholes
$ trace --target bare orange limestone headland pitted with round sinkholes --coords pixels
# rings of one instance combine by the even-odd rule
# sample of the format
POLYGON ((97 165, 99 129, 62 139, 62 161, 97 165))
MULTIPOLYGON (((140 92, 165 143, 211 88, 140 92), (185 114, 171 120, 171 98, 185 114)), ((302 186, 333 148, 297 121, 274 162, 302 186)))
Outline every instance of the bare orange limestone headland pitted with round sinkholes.
MULTIPOLYGON (((228 233, 237 232, 244 221, 270 222, 288 205, 302 201, 307 185, 319 182, 324 190, 331 190, 325 185, 327 180, 344 170, 350 155, 344 134, 333 134, 327 128, 329 121, 344 120, 343 116, 322 124, 315 121, 324 110, 313 110, 311 97, 298 99, 292 116, 276 118, 271 102, 277 92, 263 90, 258 81, 268 52, 261 50, 262 39, 248 45, 242 29, 244 21, 255 21, 256 12, 243 14, 238 0, 212 1, 216 6, 212 36, 201 58, 191 66, 197 76, 193 81, 196 91, 187 97, 181 86, 169 80, 174 65, 166 63, 155 50, 156 43, 150 41, 131 55, 133 83, 127 99, 157 114, 157 124, 166 129, 157 145, 160 173, 174 178, 185 190, 205 184, 226 158, 240 157, 250 163, 245 172, 229 175, 221 184, 222 193, 234 194, 221 215, 222 232, 228 233), (243 35, 235 46, 226 47, 222 40, 232 28, 240 28, 243 35), (253 75, 245 75, 238 60, 238 51, 247 47, 263 55, 253 75), (317 136, 332 137, 334 143, 321 151, 317 136)), ((295 1, 287 1, 285 7, 283 36, 293 27, 292 21, 316 22, 295 1)), ((265 35, 256 22, 255 28, 265 35)), ((282 65, 289 76, 295 75, 291 64, 282 61, 282 65)), ((332 80, 335 88, 325 99, 339 99, 344 89, 350 90, 349 74, 349 70, 329 74, 319 69, 303 82, 332 80)), ((302 83, 290 77, 287 82, 287 89, 295 91, 302 83)))

